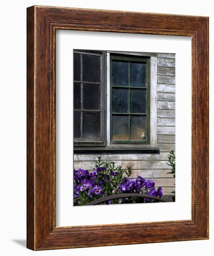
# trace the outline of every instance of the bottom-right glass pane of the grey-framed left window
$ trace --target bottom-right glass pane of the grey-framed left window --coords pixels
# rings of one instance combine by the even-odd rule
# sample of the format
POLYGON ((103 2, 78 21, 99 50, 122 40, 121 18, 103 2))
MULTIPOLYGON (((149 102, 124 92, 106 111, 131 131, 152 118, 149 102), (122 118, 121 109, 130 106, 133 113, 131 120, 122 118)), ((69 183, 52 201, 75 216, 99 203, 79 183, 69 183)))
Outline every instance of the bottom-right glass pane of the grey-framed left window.
POLYGON ((83 112, 83 138, 100 138, 100 112, 83 112))

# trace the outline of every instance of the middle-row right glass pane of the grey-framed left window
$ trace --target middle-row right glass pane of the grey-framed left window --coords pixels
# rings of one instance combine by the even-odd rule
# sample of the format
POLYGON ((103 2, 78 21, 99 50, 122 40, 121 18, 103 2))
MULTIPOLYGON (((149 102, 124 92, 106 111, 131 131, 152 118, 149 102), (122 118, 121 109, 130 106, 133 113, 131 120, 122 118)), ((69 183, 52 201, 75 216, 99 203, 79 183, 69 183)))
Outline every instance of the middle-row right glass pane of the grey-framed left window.
POLYGON ((83 108, 91 110, 100 109, 99 84, 83 84, 83 108))

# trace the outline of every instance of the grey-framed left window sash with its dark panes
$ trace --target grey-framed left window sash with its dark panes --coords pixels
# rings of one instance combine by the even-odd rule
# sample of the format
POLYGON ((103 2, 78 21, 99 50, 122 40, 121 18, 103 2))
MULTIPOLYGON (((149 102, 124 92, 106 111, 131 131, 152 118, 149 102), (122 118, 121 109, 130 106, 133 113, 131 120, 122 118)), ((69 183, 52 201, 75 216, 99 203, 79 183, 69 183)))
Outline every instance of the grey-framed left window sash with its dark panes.
POLYGON ((83 146, 105 143, 103 58, 102 52, 73 52, 74 143, 83 146))

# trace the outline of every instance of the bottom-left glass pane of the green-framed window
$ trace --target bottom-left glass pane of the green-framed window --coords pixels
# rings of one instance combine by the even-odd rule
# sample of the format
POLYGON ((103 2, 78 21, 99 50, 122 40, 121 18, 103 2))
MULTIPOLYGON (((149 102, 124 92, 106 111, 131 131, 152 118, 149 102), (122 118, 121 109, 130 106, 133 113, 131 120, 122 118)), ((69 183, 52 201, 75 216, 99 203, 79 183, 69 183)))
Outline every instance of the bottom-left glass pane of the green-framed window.
POLYGON ((112 140, 113 141, 129 140, 129 116, 128 115, 112 116, 112 140))

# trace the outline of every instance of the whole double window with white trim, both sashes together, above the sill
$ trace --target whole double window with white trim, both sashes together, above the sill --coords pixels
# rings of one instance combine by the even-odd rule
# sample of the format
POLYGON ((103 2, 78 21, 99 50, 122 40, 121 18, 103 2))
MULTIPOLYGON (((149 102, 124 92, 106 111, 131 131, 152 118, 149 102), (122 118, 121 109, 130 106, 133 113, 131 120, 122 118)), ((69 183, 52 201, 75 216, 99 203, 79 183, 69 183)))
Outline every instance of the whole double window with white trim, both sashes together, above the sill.
POLYGON ((75 150, 157 149, 156 62, 155 54, 74 50, 75 150))

